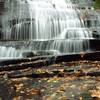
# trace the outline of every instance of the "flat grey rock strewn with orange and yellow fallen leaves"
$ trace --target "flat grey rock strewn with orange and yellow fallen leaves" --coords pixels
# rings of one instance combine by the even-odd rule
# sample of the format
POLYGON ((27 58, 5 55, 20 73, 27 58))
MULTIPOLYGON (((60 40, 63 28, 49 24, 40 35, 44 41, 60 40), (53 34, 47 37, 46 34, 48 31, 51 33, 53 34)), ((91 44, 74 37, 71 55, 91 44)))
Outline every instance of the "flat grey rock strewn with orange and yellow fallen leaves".
POLYGON ((100 61, 1 71, 0 100, 100 100, 100 61))

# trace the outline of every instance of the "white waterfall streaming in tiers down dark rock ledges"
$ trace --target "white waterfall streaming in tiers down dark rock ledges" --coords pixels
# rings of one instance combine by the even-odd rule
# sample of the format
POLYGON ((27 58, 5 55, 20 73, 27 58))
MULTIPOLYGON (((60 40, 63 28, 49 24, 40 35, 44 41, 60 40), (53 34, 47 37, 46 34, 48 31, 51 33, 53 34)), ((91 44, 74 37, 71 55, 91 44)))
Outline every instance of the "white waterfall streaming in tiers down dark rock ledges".
MULTIPOLYGON (((92 33, 84 28, 78 9, 70 0, 15 0, 10 4, 10 10, 4 15, 3 39, 32 43, 21 50, 9 47, 11 51, 6 52, 10 52, 7 57, 20 57, 25 49, 54 50, 57 51, 55 54, 89 50, 87 39, 92 38, 92 33)), ((2 52, 7 51, 7 48, 0 48, 0 56, 6 57, 2 52)))

